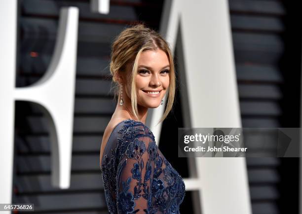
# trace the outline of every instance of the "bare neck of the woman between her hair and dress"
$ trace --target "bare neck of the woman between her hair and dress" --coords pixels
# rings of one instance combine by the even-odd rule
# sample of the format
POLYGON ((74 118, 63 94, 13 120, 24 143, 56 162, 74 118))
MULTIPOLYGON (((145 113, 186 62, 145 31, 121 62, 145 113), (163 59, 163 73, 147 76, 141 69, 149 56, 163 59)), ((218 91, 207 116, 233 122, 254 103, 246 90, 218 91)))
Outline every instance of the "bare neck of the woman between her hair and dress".
POLYGON ((128 97, 123 96, 123 105, 122 106, 119 105, 119 101, 120 101, 120 95, 118 96, 117 105, 116 105, 116 108, 115 108, 115 111, 113 114, 115 114, 118 117, 125 118, 125 119, 133 119, 136 121, 140 121, 144 124, 146 123, 146 118, 147 118, 147 114, 148 114, 147 107, 142 107, 140 105, 137 105, 138 118, 136 118, 132 111, 131 100, 128 97))

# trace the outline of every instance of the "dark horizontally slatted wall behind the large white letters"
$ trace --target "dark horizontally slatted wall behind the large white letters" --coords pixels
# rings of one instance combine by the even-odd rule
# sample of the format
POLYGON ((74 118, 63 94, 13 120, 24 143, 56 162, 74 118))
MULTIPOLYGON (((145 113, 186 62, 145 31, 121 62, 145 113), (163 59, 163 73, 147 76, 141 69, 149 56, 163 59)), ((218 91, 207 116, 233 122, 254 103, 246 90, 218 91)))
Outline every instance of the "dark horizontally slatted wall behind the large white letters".
MULTIPOLYGON (((35 213, 108 213, 99 152, 116 105, 109 93, 111 42, 137 21, 159 30, 164 3, 110 0, 110 13, 102 15, 92 13, 90 0, 18 0, 16 87, 33 84, 47 70, 61 7, 78 7, 79 25, 71 186, 63 190, 51 185, 47 121, 35 104, 17 101, 12 203, 35 203, 35 213)), ((300 127, 301 2, 228 0, 228 4, 242 126, 300 127)), ((200 27, 198 20, 195 24, 200 27)), ((182 63, 178 45, 176 68, 182 63)), ((171 151, 163 143, 171 141, 169 130, 184 127, 186 112, 176 95, 174 110, 162 126, 159 149, 188 178, 188 161, 175 155, 176 146, 171 151)), ((174 138, 177 141, 177 135, 174 138)), ((253 214, 299 213, 299 162, 299 158, 246 158, 253 214)), ((194 213, 193 195, 187 191, 181 213, 194 213)))

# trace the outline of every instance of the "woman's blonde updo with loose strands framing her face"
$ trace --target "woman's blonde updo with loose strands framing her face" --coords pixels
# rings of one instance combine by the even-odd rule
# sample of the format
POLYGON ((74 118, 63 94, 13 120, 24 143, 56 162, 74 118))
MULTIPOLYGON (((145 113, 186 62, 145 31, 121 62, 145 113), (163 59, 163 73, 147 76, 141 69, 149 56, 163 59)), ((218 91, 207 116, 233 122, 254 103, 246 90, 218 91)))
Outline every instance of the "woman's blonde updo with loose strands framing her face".
MULTIPOLYGON (((173 106, 175 89, 176 89, 176 77, 173 56, 168 43, 154 30, 145 27, 144 24, 136 24, 129 28, 124 29, 113 41, 110 71, 113 77, 113 83, 118 82, 116 80, 116 74, 118 71, 126 71, 126 66, 130 63, 132 67, 131 75, 131 107, 134 116, 138 118, 137 110, 137 94, 135 77, 137 75, 138 58, 145 50, 160 49, 164 51, 169 59, 170 72, 169 72, 169 87, 168 87, 168 102, 165 112, 159 122, 162 122, 170 112, 173 106)), ((115 90, 115 97, 118 97, 118 87, 115 90)))

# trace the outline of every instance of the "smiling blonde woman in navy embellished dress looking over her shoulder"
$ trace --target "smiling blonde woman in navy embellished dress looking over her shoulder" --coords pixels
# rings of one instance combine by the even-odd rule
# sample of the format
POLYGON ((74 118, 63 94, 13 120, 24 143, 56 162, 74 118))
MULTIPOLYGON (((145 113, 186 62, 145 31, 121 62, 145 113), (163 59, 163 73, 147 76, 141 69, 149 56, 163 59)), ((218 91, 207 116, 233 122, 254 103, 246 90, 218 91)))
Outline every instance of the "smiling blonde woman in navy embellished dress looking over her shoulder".
POLYGON ((145 125, 148 108, 163 105, 167 92, 160 121, 172 108, 175 72, 171 50, 155 31, 137 24, 114 40, 110 71, 118 84, 118 102, 100 151, 109 212, 178 214, 185 184, 145 125))

